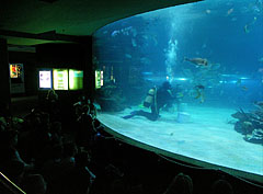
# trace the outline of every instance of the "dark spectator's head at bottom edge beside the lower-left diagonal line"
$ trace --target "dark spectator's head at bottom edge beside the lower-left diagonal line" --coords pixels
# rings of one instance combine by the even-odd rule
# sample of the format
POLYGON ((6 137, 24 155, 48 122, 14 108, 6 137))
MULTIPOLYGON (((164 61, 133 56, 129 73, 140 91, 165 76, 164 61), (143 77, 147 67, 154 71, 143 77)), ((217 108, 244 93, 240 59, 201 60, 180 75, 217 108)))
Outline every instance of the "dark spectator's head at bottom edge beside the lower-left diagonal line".
POLYGON ((45 194, 46 182, 41 174, 30 174, 24 178, 22 185, 27 194, 45 194))

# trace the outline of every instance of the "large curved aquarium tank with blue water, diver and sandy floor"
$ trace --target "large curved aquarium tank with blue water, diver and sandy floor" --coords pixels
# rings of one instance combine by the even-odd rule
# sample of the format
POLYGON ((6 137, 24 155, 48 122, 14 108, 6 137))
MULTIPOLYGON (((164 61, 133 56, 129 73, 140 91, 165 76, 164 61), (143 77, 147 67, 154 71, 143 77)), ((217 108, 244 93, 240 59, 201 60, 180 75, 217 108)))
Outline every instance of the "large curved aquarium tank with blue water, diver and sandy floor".
POLYGON ((263 182, 263 1, 205 0, 94 34, 98 118, 137 146, 263 182))

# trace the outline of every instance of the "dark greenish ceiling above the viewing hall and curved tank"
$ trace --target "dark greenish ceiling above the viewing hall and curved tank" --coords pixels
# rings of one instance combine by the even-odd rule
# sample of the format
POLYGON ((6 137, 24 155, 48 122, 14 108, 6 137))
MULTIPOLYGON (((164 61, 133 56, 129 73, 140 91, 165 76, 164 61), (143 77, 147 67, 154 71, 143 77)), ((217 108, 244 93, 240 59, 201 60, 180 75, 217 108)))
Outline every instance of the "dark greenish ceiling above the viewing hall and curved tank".
POLYGON ((195 1, 199 0, 1 0, 0 37, 20 46, 65 41, 53 35, 92 35, 119 19, 195 1))

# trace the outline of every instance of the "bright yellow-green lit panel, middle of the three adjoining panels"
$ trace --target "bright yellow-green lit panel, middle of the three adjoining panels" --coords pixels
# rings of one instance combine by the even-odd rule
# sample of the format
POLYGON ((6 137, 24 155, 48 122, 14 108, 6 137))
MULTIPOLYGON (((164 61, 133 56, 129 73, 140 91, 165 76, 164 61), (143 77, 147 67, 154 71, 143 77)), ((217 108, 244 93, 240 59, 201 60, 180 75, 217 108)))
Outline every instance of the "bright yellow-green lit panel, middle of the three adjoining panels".
POLYGON ((53 69, 54 90, 68 90, 68 69, 53 69))

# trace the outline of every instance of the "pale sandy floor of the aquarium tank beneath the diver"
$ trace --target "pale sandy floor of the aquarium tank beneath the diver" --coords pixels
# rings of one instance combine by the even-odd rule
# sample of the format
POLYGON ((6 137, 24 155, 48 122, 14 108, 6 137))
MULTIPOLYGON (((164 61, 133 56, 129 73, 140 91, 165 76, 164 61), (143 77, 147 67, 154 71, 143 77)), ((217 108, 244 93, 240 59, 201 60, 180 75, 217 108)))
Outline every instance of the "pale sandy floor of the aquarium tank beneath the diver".
MULTIPOLYGON (((161 112, 156 122, 141 116, 124 119, 138 107, 119 113, 100 113, 98 118, 115 134, 169 153, 263 175, 263 146, 247 142, 233 129, 233 109, 188 106, 190 122, 178 123, 176 113, 161 112)), ((149 111, 149 110, 145 110, 149 111)))

